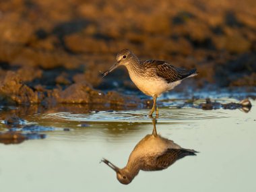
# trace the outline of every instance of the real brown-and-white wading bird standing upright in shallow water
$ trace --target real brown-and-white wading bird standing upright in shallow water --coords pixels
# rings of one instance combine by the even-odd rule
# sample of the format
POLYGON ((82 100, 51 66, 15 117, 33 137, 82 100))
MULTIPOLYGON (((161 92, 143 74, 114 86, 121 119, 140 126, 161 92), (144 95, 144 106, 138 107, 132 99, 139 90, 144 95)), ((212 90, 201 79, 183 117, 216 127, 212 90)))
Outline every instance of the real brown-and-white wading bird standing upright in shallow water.
MULTIPOLYGON (((141 92, 154 98, 154 105, 150 111, 150 116, 152 116, 156 109, 156 98, 158 96, 172 90, 183 79, 197 75, 196 69, 181 69, 170 65, 166 61, 140 61, 129 49, 123 49, 117 53, 117 63, 110 67, 103 75, 106 76, 119 65, 127 67, 131 80, 141 92)), ((156 110, 156 113, 158 114, 158 110, 156 110)))

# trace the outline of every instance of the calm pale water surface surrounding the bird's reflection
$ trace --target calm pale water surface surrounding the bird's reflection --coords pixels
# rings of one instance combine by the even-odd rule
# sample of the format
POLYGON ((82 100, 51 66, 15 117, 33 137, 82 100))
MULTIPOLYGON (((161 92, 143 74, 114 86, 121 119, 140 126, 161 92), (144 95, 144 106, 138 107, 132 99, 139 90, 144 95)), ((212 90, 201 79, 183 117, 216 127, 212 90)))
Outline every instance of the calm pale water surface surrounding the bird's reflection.
MULTIPOLYGON (((251 102, 249 113, 160 108, 158 133, 200 153, 166 170, 140 171, 129 185, 119 183, 115 172, 99 162, 106 158, 125 166, 137 142, 152 133, 148 110, 28 115, 28 123, 71 131, 46 131, 46 139, 20 144, 0 143, 1 191, 254 191, 256 102, 251 102)), ((5 130, 0 123, 0 131, 5 130)))

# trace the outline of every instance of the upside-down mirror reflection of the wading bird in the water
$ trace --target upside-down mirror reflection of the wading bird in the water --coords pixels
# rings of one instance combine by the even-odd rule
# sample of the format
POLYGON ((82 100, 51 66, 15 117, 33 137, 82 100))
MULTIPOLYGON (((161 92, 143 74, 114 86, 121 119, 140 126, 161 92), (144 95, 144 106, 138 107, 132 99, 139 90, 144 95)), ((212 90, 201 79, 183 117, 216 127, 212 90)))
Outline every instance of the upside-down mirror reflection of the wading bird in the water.
POLYGON ((163 170, 185 156, 195 156, 195 150, 181 148, 173 141, 161 137, 156 132, 156 119, 152 119, 154 129, 133 149, 127 165, 119 168, 105 158, 101 160, 117 173, 117 179, 125 185, 131 183, 139 170, 163 170))

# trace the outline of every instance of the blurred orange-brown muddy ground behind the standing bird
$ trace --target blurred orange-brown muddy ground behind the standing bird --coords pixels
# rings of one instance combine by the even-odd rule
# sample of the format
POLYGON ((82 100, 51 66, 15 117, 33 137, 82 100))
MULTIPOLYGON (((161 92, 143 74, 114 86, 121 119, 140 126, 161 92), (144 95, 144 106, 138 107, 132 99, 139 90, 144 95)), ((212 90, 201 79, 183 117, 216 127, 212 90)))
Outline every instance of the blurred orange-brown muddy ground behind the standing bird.
POLYGON ((95 90, 137 90, 123 68, 101 77, 125 48, 196 67, 194 90, 256 86, 256 1, 1 0, 0 100, 122 102, 95 90))

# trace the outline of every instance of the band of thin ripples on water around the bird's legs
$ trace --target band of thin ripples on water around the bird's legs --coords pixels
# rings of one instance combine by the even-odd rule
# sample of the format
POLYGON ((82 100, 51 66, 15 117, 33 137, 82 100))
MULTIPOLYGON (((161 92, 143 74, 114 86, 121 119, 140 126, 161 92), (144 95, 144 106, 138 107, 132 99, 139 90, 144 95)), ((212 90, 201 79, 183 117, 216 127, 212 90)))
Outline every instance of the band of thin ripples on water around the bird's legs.
MULTIPOLYGON (((228 117, 224 110, 201 110, 197 108, 160 110, 159 121, 169 123, 174 121, 191 121, 193 119, 219 119, 228 117)), ((45 119, 62 119, 65 121, 88 121, 88 122, 151 122, 148 110, 116 110, 113 112, 99 111, 98 113, 74 114, 74 113, 51 113, 44 115, 45 119)))

